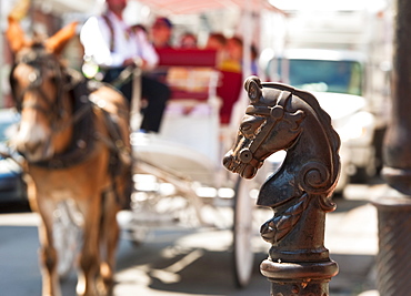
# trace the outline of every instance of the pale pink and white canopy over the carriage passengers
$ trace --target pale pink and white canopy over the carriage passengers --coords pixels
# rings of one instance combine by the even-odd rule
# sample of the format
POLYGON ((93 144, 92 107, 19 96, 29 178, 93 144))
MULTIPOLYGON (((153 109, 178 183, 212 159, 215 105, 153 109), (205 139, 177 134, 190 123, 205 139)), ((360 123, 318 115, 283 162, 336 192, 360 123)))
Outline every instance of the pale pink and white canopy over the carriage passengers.
MULTIPOLYGON (((271 0, 129 0, 130 2, 149 8, 148 16, 169 17, 171 21, 184 16, 207 14, 208 24, 214 24, 214 28, 209 28, 211 31, 240 35, 244 44, 243 79, 251 75, 251 44, 255 44, 260 53, 263 49, 280 51, 283 47, 287 14, 273 6, 271 0)), ((187 20, 190 23, 190 19, 187 20)), ((194 25, 190 28, 194 29, 194 25)), ((200 41, 202 34, 199 33, 198 37, 200 41)), ((262 71, 260 68, 259 76, 263 76, 262 71)), ((244 92, 241 92, 239 99, 239 109, 248 104, 244 92)), ((239 120, 234 119, 233 122, 239 120)))

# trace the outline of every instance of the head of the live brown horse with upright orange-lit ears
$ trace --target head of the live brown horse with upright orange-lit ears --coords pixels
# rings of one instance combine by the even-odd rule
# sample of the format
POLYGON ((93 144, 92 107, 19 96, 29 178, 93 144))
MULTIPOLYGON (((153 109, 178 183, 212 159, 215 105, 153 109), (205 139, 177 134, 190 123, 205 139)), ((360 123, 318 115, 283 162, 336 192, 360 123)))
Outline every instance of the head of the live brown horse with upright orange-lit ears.
POLYGON ((28 40, 19 23, 9 18, 7 38, 14 54, 10 85, 21 123, 13 143, 28 161, 50 159, 70 139, 70 129, 59 131, 68 120, 68 75, 59 54, 76 32, 72 23, 46 40, 28 40))

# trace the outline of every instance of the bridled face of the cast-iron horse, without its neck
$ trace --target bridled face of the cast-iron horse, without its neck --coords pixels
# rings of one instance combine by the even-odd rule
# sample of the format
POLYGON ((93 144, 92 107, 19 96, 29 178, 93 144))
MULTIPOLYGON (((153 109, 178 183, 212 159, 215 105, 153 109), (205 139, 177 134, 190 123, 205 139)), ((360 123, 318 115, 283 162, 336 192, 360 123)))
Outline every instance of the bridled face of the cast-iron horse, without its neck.
POLYGON ((244 88, 251 104, 247 108, 233 147, 225 154, 224 166, 251 178, 272 153, 289 149, 301 133, 304 112, 290 112, 285 104, 291 92, 263 88, 251 76, 244 88))

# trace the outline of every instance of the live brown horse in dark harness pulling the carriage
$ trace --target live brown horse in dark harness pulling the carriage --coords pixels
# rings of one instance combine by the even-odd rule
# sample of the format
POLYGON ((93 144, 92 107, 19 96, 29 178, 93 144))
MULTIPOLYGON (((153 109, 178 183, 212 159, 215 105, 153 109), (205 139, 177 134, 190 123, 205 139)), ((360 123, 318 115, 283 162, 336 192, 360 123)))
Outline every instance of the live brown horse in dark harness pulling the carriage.
POLYGON ((10 83, 21 113, 12 143, 27 161, 30 205, 41 216, 42 295, 61 295, 53 221, 66 201, 80 213, 83 234, 77 293, 110 295, 116 215, 129 201, 131 184, 129 109, 114 89, 90 90, 82 75, 63 65, 59 55, 74 32, 72 23, 51 38, 28 41, 9 19, 7 37, 16 57, 10 83))

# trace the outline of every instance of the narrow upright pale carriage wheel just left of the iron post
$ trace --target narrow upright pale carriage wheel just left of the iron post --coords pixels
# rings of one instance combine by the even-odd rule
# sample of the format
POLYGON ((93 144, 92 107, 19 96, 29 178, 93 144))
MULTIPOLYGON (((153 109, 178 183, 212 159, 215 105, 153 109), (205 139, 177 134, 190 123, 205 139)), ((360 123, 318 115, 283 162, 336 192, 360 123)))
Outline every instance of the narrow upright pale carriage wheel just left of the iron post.
POLYGON ((251 278, 254 254, 252 251, 252 211, 250 196, 252 181, 239 177, 234 196, 233 262, 238 287, 245 287, 251 278))

